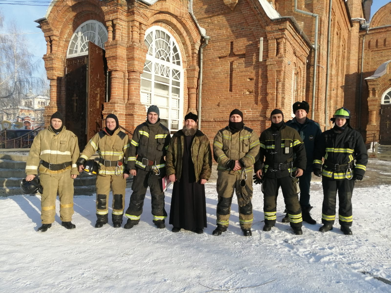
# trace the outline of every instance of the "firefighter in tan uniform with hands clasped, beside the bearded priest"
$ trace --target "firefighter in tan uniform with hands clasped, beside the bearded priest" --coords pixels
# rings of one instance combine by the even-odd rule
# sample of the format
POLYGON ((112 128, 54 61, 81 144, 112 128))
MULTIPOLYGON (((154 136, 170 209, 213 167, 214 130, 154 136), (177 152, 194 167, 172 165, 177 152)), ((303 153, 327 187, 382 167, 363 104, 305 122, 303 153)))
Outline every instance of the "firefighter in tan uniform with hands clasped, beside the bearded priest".
POLYGON ((238 109, 233 110, 229 125, 220 129, 213 141, 213 155, 218 163, 217 228, 213 235, 221 235, 228 228, 234 191, 238 198, 240 228, 244 236, 252 235, 252 174, 259 149, 258 135, 244 126, 243 113, 238 109))

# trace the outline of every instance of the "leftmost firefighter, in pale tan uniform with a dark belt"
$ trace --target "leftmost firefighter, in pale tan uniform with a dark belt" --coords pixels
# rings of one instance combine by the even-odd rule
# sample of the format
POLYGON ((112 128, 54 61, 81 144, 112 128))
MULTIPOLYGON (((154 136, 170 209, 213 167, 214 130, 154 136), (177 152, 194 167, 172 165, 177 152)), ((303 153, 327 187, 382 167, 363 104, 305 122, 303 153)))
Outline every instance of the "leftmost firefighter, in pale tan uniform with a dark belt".
POLYGON ((38 231, 46 231, 54 222, 56 214, 57 192, 60 198, 61 225, 74 229, 73 215, 73 179, 79 175, 76 160, 80 151, 77 137, 66 130, 64 118, 54 113, 50 126, 38 133, 30 148, 26 163, 26 181, 31 181, 38 174, 39 167, 43 193, 41 197, 42 226, 38 231), (40 160, 42 163, 40 165, 40 160))

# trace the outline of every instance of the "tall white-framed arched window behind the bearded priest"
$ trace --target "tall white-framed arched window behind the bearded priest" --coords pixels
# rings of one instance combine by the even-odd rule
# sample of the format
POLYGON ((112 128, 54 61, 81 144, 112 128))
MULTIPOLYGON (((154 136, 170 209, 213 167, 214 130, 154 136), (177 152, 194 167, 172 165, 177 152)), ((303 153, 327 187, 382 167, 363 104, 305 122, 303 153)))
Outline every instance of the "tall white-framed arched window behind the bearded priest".
POLYGON ((153 26, 145 33, 148 48, 141 75, 141 103, 157 105, 163 125, 170 130, 182 128, 183 68, 178 45, 164 28, 153 26))

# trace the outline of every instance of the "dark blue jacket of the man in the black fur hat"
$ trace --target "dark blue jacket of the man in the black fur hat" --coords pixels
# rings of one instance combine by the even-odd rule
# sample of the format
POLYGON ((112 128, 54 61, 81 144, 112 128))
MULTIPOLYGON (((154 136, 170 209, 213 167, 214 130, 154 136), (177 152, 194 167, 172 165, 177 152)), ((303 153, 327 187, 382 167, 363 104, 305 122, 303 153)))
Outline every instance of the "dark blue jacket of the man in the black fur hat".
POLYGON ((297 132, 299 132, 300 137, 304 142, 305 153, 307 155, 307 166, 305 167, 305 171, 312 172, 312 162, 314 160, 315 141, 317 141, 322 134, 322 130, 319 126, 319 123, 311 119, 305 118, 304 124, 301 124, 297 122, 295 117, 292 120, 286 122, 285 125, 292 127, 297 132))

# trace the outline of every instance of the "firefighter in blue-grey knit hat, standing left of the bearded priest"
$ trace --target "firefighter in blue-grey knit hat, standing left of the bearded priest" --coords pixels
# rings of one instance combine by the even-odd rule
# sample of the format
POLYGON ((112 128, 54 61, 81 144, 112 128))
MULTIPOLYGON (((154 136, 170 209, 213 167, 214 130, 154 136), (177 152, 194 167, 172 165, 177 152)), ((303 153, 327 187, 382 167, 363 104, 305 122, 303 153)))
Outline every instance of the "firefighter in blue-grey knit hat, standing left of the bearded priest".
POLYGON ((134 177, 131 187, 133 192, 125 213, 128 218, 125 229, 131 229, 140 222, 148 187, 151 191, 153 223, 159 229, 166 227, 164 220, 167 212, 164 209, 162 179, 166 176, 164 157, 171 135, 161 123, 159 114, 159 108, 151 105, 146 122, 136 127, 130 141, 128 168, 134 177))

